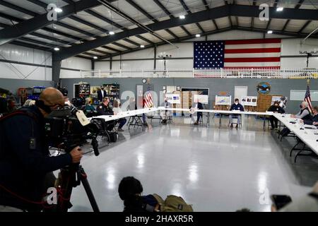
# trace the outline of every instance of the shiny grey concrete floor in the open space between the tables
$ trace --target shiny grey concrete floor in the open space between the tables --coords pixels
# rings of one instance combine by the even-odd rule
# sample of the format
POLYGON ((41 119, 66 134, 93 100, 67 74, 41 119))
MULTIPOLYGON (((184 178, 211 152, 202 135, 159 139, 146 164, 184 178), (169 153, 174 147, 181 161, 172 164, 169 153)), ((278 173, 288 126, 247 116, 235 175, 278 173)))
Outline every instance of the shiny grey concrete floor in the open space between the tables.
MULTIPOLYGON (((271 194, 299 198, 318 181, 318 161, 289 157, 293 138, 278 141, 271 131, 262 131, 262 121, 243 119, 242 129, 228 129, 228 119, 218 129, 211 125, 174 124, 131 129, 121 141, 88 154, 81 165, 102 211, 122 211, 117 192, 122 177, 133 176, 143 184, 143 194, 182 196, 195 211, 269 211, 271 194)), ((267 124, 266 124, 267 125, 267 124)), ((73 189, 70 211, 91 211, 83 189, 73 189)))

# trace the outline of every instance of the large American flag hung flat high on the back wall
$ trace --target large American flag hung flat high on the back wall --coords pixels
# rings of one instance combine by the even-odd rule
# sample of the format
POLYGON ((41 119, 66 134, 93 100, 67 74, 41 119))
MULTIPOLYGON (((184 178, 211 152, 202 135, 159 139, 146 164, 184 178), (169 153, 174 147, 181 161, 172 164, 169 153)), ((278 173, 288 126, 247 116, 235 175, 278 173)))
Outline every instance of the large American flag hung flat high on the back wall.
POLYGON ((194 69, 280 69, 281 39, 194 42, 194 69))

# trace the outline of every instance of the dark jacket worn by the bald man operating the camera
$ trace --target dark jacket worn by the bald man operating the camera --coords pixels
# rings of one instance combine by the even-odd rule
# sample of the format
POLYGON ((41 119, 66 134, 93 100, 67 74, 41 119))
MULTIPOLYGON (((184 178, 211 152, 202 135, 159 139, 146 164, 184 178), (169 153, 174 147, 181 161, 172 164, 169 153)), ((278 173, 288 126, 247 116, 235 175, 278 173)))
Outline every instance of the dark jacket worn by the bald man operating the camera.
POLYGON ((44 117, 36 106, 27 111, 33 117, 18 114, 0 121, 0 205, 40 210, 42 205, 23 201, 12 193, 40 202, 47 192, 45 175, 69 165, 71 155, 49 157, 44 117))

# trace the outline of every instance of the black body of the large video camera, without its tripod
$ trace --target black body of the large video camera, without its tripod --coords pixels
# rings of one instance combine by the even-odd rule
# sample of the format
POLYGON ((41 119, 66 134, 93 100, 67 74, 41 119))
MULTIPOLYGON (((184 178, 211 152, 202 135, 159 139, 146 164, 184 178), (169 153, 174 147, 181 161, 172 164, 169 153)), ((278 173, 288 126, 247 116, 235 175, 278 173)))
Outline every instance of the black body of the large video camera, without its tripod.
POLYGON ((64 107, 54 110, 45 118, 45 137, 49 146, 64 149, 69 153, 76 146, 90 139, 95 155, 99 155, 96 137, 100 132, 98 125, 92 123, 82 126, 76 117, 76 107, 64 107))

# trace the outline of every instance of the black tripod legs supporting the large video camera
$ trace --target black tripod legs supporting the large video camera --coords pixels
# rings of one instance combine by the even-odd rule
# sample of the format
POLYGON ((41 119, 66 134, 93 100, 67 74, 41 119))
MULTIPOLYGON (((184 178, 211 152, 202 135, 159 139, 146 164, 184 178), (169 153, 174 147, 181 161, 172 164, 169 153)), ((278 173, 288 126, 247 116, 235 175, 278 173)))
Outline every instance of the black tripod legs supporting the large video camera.
POLYGON ((61 169, 58 186, 60 194, 57 200, 57 212, 67 212, 71 208, 71 193, 73 188, 80 185, 82 182, 90 206, 92 206, 94 212, 100 212, 98 204, 96 203, 90 184, 88 183, 86 172, 83 167, 79 164, 72 164, 61 169))

